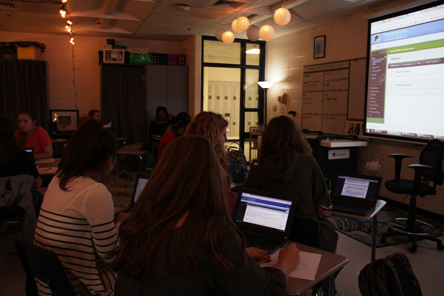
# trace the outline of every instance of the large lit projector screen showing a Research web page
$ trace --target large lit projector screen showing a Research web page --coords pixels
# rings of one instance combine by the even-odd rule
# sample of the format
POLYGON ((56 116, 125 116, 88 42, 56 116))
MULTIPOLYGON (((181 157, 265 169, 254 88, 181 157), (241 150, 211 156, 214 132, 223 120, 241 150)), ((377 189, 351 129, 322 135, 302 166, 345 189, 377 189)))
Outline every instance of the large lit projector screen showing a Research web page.
POLYGON ((444 140, 444 0, 369 20, 364 136, 444 140))

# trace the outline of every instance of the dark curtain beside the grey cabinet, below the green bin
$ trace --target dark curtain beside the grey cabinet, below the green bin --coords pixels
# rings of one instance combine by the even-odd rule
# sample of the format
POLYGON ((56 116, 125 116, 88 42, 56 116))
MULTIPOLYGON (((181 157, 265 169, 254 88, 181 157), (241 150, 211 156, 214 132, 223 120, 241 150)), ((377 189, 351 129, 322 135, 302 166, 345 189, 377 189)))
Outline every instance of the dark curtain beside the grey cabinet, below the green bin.
POLYGON ((127 143, 146 141, 143 66, 102 65, 102 117, 127 143))

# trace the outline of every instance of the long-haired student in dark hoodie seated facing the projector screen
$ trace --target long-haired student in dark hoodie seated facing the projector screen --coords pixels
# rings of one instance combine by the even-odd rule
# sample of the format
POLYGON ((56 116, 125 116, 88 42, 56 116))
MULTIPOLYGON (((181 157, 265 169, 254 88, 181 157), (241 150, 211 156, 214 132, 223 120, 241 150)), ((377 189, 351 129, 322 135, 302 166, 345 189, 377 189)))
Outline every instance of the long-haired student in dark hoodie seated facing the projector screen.
POLYGON ((338 235, 327 223, 332 200, 307 139, 287 116, 272 118, 262 136, 259 164, 246 187, 297 196, 295 214, 319 220, 321 249, 334 252, 338 235))

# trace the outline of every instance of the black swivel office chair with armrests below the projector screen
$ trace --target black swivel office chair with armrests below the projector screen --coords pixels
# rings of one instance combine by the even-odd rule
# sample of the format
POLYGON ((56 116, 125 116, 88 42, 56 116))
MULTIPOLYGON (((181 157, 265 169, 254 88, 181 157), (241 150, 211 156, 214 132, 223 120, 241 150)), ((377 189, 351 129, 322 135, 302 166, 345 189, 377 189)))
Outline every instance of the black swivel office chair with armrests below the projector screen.
POLYGON ((398 194, 410 195, 410 205, 408 209, 408 217, 397 218, 387 221, 387 226, 394 231, 383 234, 380 242, 385 243, 386 237, 407 235, 413 246, 408 248, 411 253, 416 252, 418 245, 415 236, 421 236, 425 239, 437 242, 437 249, 443 250, 444 245, 441 240, 432 237, 436 232, 436 228, 429 223, 418 221, 415 219, 416 214, 416 196, 425 197, 426 195, 436 194, 436 185, 442 185, 444 182, 443 160, 444 160, 444 142, 440 140, 431 140, 421 152, 419 156, 419 164, 410 164, 408 167, 415 170, 414 180, 400 179, 402 161, 406 157, 413 157, 405 154, 391 154, 395 158, 395 179, 385 182, 385 187, 392 192, 398 194), (421 182, 428 180, 433 182, 433 186, 421 182), (421 229, 425 226, 428 230, 421 229), (432 230, 432 231, 430 231, 432 230))

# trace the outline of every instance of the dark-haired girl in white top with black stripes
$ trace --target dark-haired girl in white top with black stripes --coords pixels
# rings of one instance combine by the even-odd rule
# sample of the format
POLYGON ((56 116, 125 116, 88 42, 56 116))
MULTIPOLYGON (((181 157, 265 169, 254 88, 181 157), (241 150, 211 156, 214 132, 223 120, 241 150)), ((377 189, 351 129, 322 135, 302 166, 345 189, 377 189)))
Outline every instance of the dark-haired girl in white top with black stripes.
MULTIPOLYGON (((109 268, 119 247, 111 193, 99 183, 114 168, 117 141, 95 120, 85 121, 62 154, 38 217, 34 244, 54 251, 77 292, 79 281, 94 295, 112 295, 116 273, 109 268)), ((41 295, 49 288, 37 281, 41 295)))

